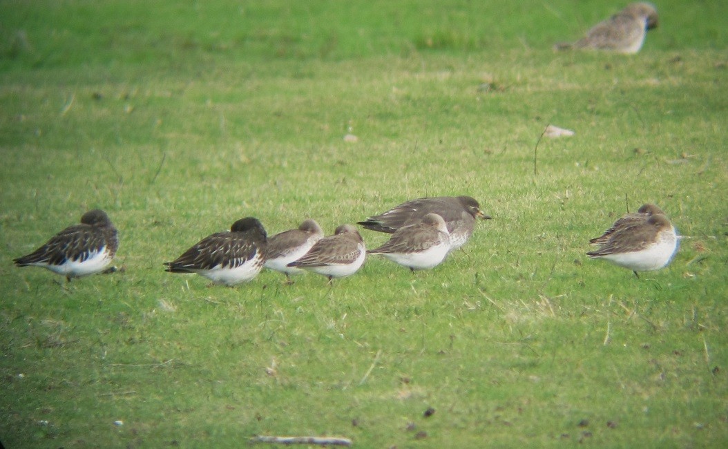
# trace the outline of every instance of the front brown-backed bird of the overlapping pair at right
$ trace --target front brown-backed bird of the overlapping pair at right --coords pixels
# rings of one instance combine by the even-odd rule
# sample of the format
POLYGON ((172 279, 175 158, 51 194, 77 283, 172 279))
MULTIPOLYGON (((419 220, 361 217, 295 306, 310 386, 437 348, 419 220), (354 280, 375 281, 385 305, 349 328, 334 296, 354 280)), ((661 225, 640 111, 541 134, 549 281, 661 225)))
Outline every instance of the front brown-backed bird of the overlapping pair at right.
POLYGON ((678 235, 665 215, 650 215, 641 223, 626 223, 612 232, 609 239, 590 258, 602 258, 633 271, 661 269, 670 263, 678 249, 678 235))

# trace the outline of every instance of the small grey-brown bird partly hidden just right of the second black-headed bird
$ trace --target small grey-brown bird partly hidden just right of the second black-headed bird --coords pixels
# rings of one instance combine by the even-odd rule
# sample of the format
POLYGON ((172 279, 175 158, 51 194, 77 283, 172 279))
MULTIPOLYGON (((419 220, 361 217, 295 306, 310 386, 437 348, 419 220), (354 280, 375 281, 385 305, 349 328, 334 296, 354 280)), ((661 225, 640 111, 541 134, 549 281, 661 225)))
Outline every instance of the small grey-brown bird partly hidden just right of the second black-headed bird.
POLYGON ((268 239, 266 268, 284 273, 288 282, 291 282, 291 275, 301 274, 304 270, 288 266, 288 263, 303 257, 320 239, 323 239, 323 229, 315 220, 311 219, 304 220, 298 229, 289 229, 275 234, 268 239))

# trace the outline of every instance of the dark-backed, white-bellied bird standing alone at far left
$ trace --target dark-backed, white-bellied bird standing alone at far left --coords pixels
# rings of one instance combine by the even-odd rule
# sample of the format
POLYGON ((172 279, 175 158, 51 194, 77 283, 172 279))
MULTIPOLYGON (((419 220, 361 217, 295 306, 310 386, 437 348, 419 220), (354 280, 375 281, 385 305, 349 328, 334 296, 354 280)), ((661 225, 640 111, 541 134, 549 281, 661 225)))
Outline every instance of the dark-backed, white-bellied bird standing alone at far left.
POLYGON ((114 224, 106 212, 95 209, 82 215, 81 224, 63 229, 33 253, 13 259, 13 263, 40 266, 71 282, 75 277, 104 271, 118 247, 114 224))

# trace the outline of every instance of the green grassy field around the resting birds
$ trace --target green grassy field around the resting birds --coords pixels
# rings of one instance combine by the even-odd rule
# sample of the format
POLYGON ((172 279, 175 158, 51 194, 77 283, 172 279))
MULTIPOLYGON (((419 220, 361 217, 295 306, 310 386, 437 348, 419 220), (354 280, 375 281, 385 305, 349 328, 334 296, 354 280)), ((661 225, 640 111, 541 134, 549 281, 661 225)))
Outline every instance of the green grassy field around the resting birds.
POLYGON ((728 4, 660 1, 625 57, 551 50, 620 2, 180 3, 0 3, 6 448, 726 444, 728 4), (459 194, 494 219, 432 271, 163 271, 459 194), (625 201, 685 236, 641 279, 585 256, 625 201), (95 207, 121 272, 12 266, 95 207))

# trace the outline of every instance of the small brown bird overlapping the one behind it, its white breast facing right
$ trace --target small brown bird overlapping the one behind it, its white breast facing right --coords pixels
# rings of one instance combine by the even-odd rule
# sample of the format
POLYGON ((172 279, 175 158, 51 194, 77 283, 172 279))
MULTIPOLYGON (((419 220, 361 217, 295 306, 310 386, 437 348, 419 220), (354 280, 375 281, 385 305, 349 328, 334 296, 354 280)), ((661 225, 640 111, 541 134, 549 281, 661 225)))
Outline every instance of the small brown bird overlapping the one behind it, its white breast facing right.
POLYGON ((355 274, 365 257, 366 248, 361 234, 354 226, 343 224, 336 228, 333 236, 320 239, 308 253, 287 266, 321 274, 328 277, 331 284, 333 278, 355 274))

